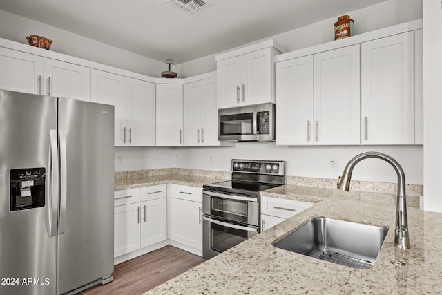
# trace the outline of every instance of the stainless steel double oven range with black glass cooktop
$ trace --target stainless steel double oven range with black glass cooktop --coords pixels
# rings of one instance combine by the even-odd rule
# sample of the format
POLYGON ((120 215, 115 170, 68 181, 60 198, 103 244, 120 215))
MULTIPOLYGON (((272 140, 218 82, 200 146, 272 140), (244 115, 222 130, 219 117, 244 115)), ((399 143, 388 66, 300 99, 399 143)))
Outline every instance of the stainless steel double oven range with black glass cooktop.
POLYGON ((260 232, 260 191, 285 184, 284 161, 232 160, 232 179, 206 184, 202 196, 203 258, 260 232))

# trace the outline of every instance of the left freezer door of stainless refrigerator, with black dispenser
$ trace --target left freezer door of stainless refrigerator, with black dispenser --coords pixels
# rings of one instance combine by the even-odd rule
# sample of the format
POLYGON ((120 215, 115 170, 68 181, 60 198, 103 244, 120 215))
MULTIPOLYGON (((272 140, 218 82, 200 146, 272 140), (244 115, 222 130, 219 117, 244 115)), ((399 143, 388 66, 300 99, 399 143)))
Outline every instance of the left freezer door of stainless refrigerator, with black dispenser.
POLYGON ((50 130, 57 130, 57 99, 0 90, 0 294, 56 294, 57 236, 49 234, 50 130), (39 177, 45 179, 44 206, 32 207, 31 200, 11 211, 11 171, 24 169, 27 180, 16 198, 30 198, 37 189, 35 168, 45 171, 39 177))

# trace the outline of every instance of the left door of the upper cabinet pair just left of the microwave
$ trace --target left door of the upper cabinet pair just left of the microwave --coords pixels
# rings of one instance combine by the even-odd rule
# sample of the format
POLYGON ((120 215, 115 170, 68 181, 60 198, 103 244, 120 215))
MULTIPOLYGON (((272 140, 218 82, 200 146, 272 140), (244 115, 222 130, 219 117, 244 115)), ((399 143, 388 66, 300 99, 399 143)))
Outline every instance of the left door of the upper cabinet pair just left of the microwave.
POLYGON ((201 145, 202 116, 202 83, 197 81, 184 85, 184 146, 201 145))

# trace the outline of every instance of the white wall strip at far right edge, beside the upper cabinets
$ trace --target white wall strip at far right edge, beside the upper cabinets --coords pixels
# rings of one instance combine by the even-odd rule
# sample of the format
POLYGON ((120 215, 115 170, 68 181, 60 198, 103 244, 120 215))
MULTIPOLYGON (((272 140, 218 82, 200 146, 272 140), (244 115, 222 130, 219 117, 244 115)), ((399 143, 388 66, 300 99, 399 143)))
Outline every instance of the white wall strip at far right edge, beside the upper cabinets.
POLYGON ((442 212, 442 8, 423 1, 424 209, 442 212))

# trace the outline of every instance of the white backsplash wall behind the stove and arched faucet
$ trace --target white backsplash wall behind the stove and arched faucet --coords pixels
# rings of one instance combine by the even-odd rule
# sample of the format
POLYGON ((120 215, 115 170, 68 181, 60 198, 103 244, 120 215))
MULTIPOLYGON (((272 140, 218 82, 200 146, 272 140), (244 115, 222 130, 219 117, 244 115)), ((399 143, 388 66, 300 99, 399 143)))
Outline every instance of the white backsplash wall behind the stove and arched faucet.
MULTIPOLYGON (((358 153, 381 151, 395 158, 405 171, 406 181, 422 184, 422 146, 276 146, 274 142, 238 142, 236 146, 186 147, 173 150, 179 168, 229 171, 231 159, 285 160, 287 175, 338 178, 347 162, 358 153), (331 171, 330 160, 338 161, 331 171)), ((367 159, 354 169, 354 180, 396 182, 390 164, 367 159)))

